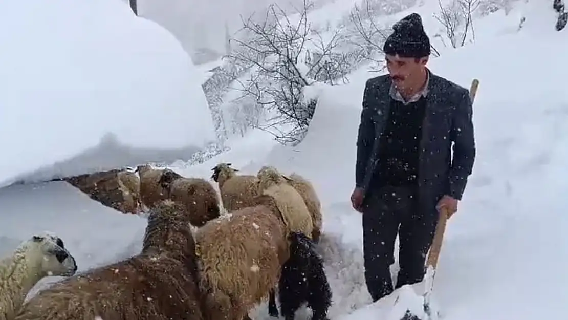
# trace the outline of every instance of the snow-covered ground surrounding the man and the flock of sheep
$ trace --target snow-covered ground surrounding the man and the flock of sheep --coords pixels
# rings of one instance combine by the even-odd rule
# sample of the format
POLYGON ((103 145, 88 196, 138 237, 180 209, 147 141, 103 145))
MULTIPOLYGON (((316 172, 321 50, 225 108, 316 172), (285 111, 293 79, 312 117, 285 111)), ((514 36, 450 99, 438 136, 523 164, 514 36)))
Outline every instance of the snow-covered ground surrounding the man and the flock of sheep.
MULTIPOLYGON (((562 62, 568 34, 554 31, 553 11, 534 0, 515 10, 508 18, 480 20, 479 30, 495 33, 430 64, 433 72, 462 86, 469 87, 474 77, 481 80, 474 103, 474 174, 449 222, 435 282, 444 320, 556 319, 568 312, 568 201, 563 198, 568 65, 562 62), (509 32, 519 21, 515 12, 527 13, 527 20, 520 32, 509 32)), ((295 148, 252 131, 206 163, 172 167, 209 178, 221 161, 243 173, 272 164, 310 178, 324 206, 320 250, 333 289, 332 320, 391 320, 392 299, 370 304, 361 215, 349 203, 362 91, 369 77, 360 70, 349 85, 325 88, 310 131, 295 148)), ((0 189, 0 219, 0 253, 48 229, 62 236, 80 269, 139 250, 145 225, 144 219, 118 214, 61 182, 0 189)), ((265 305, 251 315, 270 319, 265 305)))

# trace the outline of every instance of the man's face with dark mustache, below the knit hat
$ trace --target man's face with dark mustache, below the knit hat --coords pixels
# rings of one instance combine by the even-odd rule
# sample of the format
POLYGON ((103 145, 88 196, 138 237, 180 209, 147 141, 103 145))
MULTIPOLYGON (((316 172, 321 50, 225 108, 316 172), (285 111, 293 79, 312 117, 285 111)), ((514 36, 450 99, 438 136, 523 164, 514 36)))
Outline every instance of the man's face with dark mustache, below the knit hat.
POLYGON ((414 83, 416 76, 420 76, 428 62, 428 57, 416 59, 400 56, 386 55, 387 69, 397 88, 407 88, 414 83))

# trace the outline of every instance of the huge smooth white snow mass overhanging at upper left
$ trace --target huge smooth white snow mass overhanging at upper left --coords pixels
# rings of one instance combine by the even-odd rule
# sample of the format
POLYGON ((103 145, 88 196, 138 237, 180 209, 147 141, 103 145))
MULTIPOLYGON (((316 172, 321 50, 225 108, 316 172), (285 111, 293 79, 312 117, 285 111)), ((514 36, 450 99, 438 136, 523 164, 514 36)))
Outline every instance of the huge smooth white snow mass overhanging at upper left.
POLYGON ((153 161, 161 151, 148 149, 179 154, 215 137, 189 56, 122 1, 2 1, 0 44, 0 186, 61 166, 107 134, 130 149, 99 169, 132 161, 131 153, 153 161))

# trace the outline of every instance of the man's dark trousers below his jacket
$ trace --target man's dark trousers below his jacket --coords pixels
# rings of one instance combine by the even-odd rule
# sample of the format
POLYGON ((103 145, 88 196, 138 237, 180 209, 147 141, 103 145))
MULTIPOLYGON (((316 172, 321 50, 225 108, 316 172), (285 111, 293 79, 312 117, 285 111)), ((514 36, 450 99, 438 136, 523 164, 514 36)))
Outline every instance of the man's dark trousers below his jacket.
POLYGON ((363 254, 365 280, 373 301, 400 286, 423 280, 437 221, 435 205, 419 208, 416 188, 386 186, 369 195, 363 211, 363 254), (390 265, 394 263, 397 233, 400 270, 393 288, 390 265))

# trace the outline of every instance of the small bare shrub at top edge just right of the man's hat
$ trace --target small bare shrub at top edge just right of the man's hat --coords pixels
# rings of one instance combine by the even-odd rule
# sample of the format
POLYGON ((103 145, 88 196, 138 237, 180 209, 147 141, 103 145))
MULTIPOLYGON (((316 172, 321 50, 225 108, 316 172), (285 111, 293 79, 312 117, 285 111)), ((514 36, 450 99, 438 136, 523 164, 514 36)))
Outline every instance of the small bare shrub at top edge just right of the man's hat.
MULTIPOLYGON (((448 5, 443 6, 440 0, 440 13, 434 17, 442 24, 446 38, 453 48, 462 47, 466 44, 468 35, 475 41, 475 30, 473 27, 472 14, 479 7, 479 0, 452 0, 448 5)), ((442 43, 448 45, 440 34, 436 35, 442 43)))

